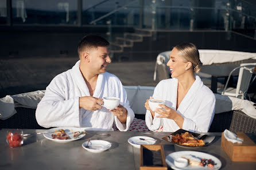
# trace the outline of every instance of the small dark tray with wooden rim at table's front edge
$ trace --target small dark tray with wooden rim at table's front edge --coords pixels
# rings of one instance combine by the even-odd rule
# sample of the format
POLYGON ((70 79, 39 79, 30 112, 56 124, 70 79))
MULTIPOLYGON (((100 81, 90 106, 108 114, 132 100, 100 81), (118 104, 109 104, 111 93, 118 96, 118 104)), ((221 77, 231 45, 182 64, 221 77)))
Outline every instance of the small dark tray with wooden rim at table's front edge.
POLYGON ((167 170, 162 145, 141 145, 140 170, 167 170))

